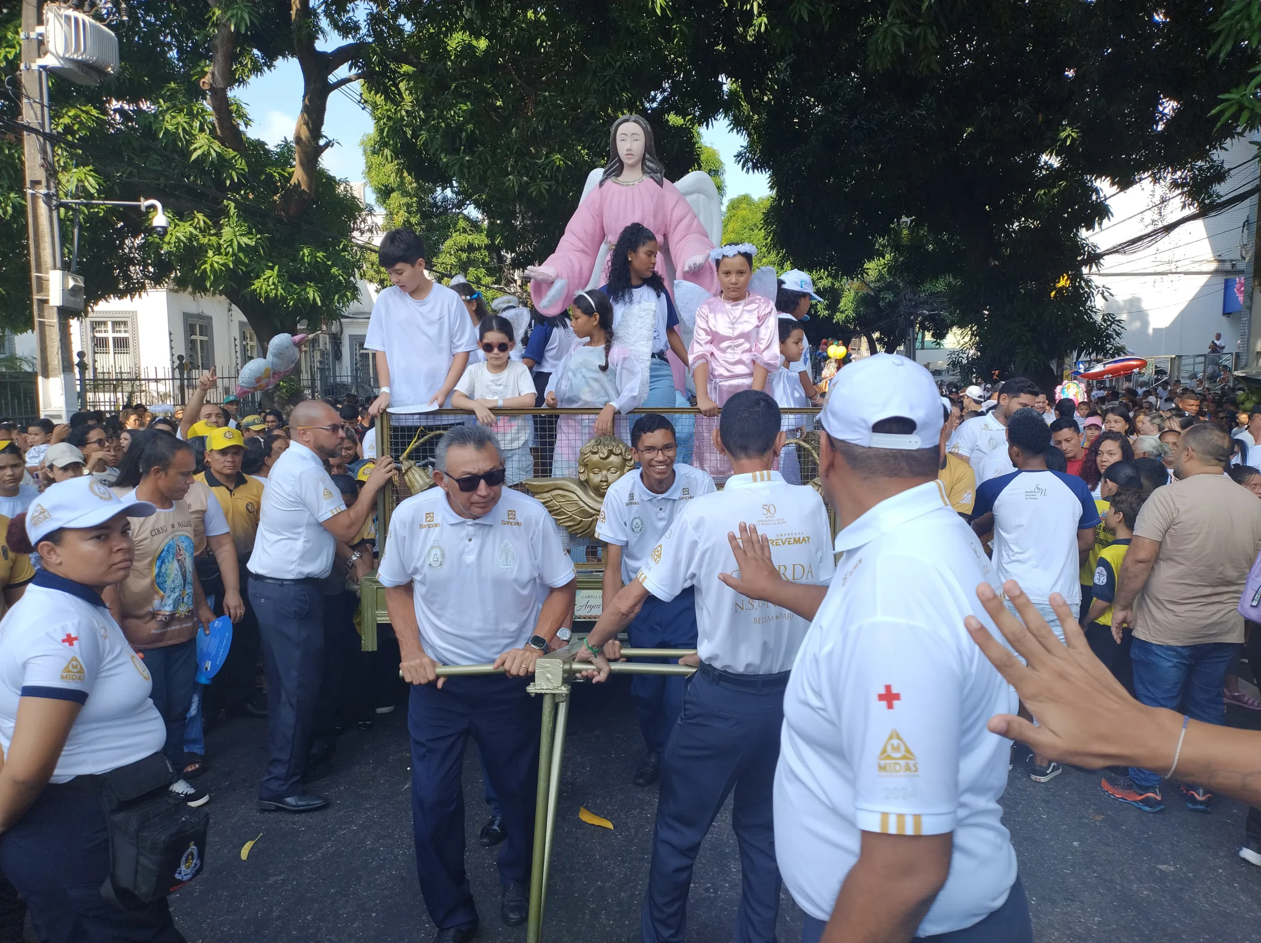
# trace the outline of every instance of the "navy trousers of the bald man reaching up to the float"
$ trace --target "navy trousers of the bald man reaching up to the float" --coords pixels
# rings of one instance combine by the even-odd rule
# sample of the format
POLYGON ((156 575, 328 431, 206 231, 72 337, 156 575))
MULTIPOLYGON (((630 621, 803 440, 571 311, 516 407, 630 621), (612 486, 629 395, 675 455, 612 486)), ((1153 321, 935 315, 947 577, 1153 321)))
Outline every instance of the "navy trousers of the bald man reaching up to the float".
POLYGON ((324 605, 314 584, 250 580, 267 672, 267 769, 260 799, 303 790, 324 668, 324 605))

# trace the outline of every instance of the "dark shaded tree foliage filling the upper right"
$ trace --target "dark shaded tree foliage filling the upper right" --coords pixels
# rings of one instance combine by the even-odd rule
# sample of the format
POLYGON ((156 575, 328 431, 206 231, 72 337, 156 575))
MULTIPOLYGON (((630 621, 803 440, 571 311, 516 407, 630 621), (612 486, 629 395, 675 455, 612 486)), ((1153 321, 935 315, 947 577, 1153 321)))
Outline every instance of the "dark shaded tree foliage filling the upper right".
POLYGON ((927 279, 957 276, 957 323, 985 369, 1050 379, 1071 350, 1112 353, 1081 232, 1098 180, 1212 199, 1229 137, 1209 112, 1251 63, 1209 55, 1202 3, 701 0, 697 76, 730 79, 767 226, 810 269, 857 272, 900 217, 927 279), (753 42, 750 42, 750 39, 753 42), (1052 295, 1068 275, 1068 290, 1052 295))

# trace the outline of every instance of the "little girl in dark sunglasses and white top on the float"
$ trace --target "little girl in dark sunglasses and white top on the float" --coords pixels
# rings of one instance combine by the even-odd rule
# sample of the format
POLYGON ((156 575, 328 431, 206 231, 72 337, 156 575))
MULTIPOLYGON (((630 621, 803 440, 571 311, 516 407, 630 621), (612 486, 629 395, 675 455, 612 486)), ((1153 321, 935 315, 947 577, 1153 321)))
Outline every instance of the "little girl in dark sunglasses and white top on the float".
POLYGON ((516 349, 512 323, 488 314, 478 325, 480 363, 470 362, 455 385, 451 406, 468 410, 483 426, 491 426, 503 453, 508 484, 533 475, 530 453, 533 424, 530 416, 496 416, 491 410, 528 410, 535 405, 535 381, 530 368, 512 357, 516 349))

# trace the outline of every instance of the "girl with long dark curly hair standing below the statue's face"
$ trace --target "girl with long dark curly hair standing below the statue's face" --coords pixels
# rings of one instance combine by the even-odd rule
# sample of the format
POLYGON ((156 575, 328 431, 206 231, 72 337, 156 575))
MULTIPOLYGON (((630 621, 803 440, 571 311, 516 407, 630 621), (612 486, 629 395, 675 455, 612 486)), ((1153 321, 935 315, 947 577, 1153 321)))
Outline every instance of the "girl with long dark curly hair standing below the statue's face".
POLYGON ((676 406, 675 374, 666 359, 666 350, 687 366, 687 348, 678 333, 678 313, 657 272, 661 247, 652 229, 630 223, 618 236, 609 253, 609 281, 600 287, 613 303, 613 329, 632 305, 648 305, 656 310, 652 329, 652 361, 648 364, 648 395, 641 406, 676 406))

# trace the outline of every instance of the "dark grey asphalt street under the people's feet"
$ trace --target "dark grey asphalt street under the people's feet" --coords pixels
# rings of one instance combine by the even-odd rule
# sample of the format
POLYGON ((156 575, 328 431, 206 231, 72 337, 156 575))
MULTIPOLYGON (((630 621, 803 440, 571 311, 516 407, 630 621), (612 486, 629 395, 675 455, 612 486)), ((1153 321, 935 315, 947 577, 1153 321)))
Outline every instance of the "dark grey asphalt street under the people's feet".
MULTIPOLYGON (((406 693, 371 730, 339 743, 337 772, 313 785, 333 806, 305 816, 255 807, 266 759, 266 721, 238 719, 208 738, 212 769, 207 869, 171 898, 194 943, 289 940, 414 943, 433 925, 416 882, 411 840, 406 693), (257 838, 248 860, 242 846, 257 838)), ((1240 726, 1261 717, 1231 709, 1240 726)), ((620 943, 638 925, 648 871, 656 787, 630 777, 642 741, 625 680, 575 687, 565 750, 543 939, 620 943), (613 831, 579 819, 579 808, 613 831)), ((1108 799, 1098 774, 1066 769, 1038 784, 1013 770, 1004 797, 1039 943, 1256 943, 1261 940, 1261 869, 1238 845, 1246 806, 1222 801, 1213 814, 1168 807, 1144 814, 1108 799)), ((496 851, 477 843, 487 818, 475 748, 464 763, 467 862, 485 943, 520 943, 525 927, 499 922, 496 851)), ((733 937, 740 860, 730 803, 701 848, 689 903, 687 939, 733 937)), ((778 938, 799 935, 801 913, 782 894, 778 938)))

